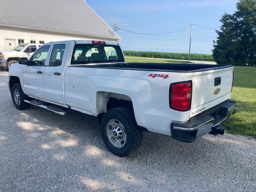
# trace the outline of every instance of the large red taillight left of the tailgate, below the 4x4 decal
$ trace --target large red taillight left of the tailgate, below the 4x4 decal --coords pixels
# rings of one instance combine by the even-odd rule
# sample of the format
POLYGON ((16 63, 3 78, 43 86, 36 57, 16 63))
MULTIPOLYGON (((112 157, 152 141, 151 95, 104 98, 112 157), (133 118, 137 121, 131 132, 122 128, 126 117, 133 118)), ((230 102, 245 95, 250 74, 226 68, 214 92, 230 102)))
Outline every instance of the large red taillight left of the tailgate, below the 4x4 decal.
POLYGON ((170 108, 188 111, 191 108, 192 81, 170 85, 170 108))

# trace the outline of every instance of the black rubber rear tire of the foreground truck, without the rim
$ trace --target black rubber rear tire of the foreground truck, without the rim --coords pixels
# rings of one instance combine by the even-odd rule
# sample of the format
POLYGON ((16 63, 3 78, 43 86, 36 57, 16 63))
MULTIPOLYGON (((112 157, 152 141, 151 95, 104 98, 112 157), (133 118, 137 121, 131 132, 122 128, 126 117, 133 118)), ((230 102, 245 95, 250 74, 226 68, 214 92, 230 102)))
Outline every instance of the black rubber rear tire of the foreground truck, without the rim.
POLYGON ((106 144, 110 152, 117 156, 123 157, 134 153, 142 144, 142 131, 138 129, 134 114, 128 108, 118 107, 109 110, 108 112, 106 112, 106 114, 104 114, 100 126, 104 143, 106 144), (107 125, 111 120, 120 121, 125 128, 126 142, 122 147, 118 148, 114 146, 114 144, 112 144, 108 138, 107 125))

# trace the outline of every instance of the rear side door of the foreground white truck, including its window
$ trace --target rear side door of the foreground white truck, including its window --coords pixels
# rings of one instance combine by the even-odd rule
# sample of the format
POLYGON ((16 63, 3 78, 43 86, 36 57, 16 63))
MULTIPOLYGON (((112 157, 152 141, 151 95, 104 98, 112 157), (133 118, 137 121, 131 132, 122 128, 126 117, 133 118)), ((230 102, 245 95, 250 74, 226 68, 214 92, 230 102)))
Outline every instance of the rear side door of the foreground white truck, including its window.
POLYGON ((68 42, 52 44, 50 60, 44 69, 44 94, 46 99, 63 104, 63 69, 68 42))

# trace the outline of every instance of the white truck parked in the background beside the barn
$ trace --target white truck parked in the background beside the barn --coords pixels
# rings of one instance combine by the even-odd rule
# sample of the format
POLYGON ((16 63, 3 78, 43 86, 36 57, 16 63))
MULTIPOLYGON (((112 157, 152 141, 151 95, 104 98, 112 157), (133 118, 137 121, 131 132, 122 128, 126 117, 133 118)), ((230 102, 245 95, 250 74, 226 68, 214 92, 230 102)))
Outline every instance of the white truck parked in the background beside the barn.
POLYGON ((12 50, 0 51, 0 68, 9 70, 10 65, 18 63, 18 59, 22 57, 30 58, 30 56, 42 44, 18 44, 12 50))

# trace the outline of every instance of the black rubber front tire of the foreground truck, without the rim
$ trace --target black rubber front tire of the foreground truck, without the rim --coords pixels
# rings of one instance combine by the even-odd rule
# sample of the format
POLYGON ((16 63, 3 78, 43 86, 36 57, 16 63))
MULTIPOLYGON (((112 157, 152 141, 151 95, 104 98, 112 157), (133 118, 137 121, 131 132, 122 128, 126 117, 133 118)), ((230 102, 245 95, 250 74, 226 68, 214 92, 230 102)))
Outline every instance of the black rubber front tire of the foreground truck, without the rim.
POLYGON ((12 94, 12 102, 13 102, 14 106, 16 107, 16 109, 23 110, 23 109, 27 109, 30 107, 30 104, 24 102, 24 100, 30 100, 30 98, 26 94, 24 94, 20 83, 15 83, 12 86, 11 94, 12 94), (17 91, 18 91, 19 98, 20 98, 19 99, 20 102, 18 102, 18 103, 16 103, 16 101, 14 99, 14 97, 16 97, 14 95, 15 94, 14 91, 15 91, 15 93, 17 93, 17 91))

